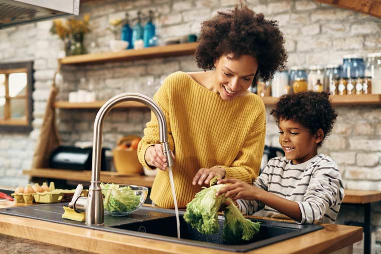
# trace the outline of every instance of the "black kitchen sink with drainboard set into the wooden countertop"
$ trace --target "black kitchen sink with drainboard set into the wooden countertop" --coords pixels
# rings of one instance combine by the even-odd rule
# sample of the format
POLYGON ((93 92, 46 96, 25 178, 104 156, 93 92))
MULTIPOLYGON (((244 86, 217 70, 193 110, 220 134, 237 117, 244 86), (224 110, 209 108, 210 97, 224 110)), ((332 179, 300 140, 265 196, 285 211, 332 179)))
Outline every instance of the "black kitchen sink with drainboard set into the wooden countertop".
MULTIPOLYGON (((62 208, 63 204, 64 203, 56 203, 3 208, 0 209, 0 213, 236 252, 252 250, 323 228, 320 225, 298 225, 288 222, 252 219, 253 221, 261 222, 260 232, 254 236, 254 239, 250 241, 242 241, 238 244, 230 244, 229 242, 223 241, 222 233, 204 235, 190 227, 182 218, 184 212, 181 211, 181 238, 177 239, 176 218, 173 210, 142 206, 136 212, 125 217, 105 215, 105 224, 103 226, 97 226, 86 225, 84 222, 61 218, 64 211, 62 208)), ((221 227, 223 223, 224 220, 221 216, 219 219, 221 227)), ((220 232, 222 232, 222 230, 220 230, 220 232)))

